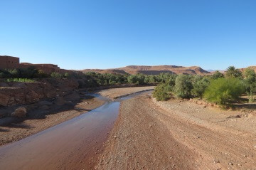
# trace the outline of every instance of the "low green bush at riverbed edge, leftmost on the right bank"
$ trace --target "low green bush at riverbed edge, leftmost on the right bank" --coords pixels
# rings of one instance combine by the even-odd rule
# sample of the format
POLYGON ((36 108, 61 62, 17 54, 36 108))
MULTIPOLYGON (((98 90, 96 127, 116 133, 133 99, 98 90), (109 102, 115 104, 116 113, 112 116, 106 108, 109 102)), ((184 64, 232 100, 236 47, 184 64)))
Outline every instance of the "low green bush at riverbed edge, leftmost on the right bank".
POLYGON ((168 84, 159 84, 155 87, 153 97, 156 97, 157 101, 166 101, 170 99, 171 86, 168 84))

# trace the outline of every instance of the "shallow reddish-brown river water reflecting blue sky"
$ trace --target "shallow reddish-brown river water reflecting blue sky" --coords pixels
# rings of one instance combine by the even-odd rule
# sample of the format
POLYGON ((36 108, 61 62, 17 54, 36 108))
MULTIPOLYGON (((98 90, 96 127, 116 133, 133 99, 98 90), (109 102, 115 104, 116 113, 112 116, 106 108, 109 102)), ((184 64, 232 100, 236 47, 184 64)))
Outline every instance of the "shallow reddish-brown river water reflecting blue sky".
POLYGON ((92 169, 122 101, 101 99, 95 110, 0 147, 0 169, 92 169))

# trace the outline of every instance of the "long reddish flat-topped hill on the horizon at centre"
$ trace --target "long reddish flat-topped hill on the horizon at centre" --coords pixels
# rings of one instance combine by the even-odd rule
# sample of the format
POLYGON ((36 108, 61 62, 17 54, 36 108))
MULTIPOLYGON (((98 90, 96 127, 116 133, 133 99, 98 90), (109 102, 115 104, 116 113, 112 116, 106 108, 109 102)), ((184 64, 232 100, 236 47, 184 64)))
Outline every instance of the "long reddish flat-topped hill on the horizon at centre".
POLYGON ((87 72, 97 72, 97 73, 114 73, 114 74, 137 74, 143 73, 145 75, 159 75, 160 73, 171 73, 171 74, 191 74, 191 75, 206 75, 210 72, 203 70, 198 66, 183 67, 176 65, 128 65, 124 68, 114 68, 114 69, 85 69, 82 70, 83 73, 87 72))

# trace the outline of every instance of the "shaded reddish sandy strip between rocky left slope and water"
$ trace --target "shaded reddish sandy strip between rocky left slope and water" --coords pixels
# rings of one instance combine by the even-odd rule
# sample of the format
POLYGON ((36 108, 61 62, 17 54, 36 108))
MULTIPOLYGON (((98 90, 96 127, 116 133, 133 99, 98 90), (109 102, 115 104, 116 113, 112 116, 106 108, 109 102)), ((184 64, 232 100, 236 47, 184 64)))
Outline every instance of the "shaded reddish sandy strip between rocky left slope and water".
POLYGON ((57 112, 53 115, 46 115, 44 119, 26 119, 23 122, 13 123, 8 127, 0 127, 0 145, 18 141, 31 134, 36 134, 44 129, 53 127, 68 119, 77 117, 82 113, 99 107, 104 102, 96 99, 83 100, 73 110, 57 112))

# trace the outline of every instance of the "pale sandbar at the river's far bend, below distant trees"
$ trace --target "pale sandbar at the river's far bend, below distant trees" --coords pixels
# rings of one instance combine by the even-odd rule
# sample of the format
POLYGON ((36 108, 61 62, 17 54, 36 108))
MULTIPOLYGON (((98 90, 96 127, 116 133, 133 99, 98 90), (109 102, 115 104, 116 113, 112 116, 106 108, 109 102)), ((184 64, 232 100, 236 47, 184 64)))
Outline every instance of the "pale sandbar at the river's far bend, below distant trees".
POLYGON ((118 97, 124 97, 126 95, 131 95, 135 92, 142 92, 146 90, 154 90, 154 86, 148 87, 125 87, 125 88, 112 88, 100 90, 98 93, 102 96, 109 97, 110 99, 116 99, 118 97))

